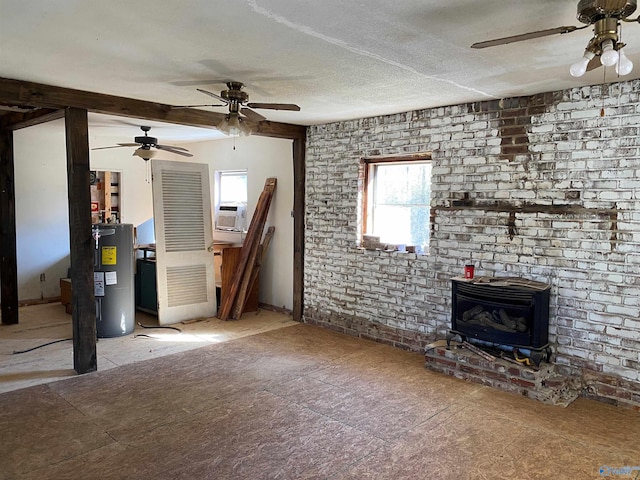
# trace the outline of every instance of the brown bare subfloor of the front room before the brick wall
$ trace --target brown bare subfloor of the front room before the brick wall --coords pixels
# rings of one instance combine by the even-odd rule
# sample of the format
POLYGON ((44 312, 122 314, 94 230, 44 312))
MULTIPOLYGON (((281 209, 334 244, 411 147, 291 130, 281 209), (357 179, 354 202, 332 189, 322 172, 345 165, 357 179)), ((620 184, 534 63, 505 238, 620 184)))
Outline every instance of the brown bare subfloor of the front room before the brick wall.
POLYGON ((287 319, 199 342, 117 366, 161 342, 107 352, 101 340, 111 368, 0 394, 0 479, 573 480, 640 468, 636 412, 544 405, 287 319))

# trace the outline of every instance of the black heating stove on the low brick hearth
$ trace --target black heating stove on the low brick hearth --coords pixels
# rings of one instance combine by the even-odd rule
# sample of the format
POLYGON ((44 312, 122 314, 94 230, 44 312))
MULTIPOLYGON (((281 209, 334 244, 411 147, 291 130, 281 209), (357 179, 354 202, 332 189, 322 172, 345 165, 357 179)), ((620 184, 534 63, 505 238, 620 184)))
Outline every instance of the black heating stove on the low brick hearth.
POLYGON ((454 278, 450 343, 476 339, 523 349, 538 365, 549 349, 550 286, 518 277, 454 278))

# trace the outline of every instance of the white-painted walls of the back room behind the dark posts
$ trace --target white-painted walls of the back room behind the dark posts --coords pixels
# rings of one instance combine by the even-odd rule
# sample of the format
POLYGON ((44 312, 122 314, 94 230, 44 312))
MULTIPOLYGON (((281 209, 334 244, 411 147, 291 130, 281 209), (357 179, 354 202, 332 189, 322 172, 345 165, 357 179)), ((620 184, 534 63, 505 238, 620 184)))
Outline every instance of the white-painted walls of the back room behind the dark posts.
MULTIPOLYGON (((89 131, 92 145, 122 142, 122 138, 100 137, 89 131)), ((253 214, 267 177, 278 178, 267 225, 276 226, 267 260, 262 267, 260 301, 293 308, 293 156, 292 142, 262 137, 215 140, 183 145, 193 154, 185 158, 166 152, 163 160, 194 161, 209 165, 213 188, 214 171, 248 170, 248 212, 253 214)), ((21 301, 60 295, 59 279, 69 267, 69 226, 64 121, 16 131, 14 134, 16 176, 16 230, 18 298, 21 301), (45 281, 40 282, 40 275, 45 281)), ((132 156, 133 148, 91 151, 91 168, 122 173, 120 201, 122 222, 138 226, 153 217, 151 184, 147 163, 132 156)), ((214 198, 212 192, 212 199, 214 198)), ((250 218, 250 217, 249 217, 250 218)))

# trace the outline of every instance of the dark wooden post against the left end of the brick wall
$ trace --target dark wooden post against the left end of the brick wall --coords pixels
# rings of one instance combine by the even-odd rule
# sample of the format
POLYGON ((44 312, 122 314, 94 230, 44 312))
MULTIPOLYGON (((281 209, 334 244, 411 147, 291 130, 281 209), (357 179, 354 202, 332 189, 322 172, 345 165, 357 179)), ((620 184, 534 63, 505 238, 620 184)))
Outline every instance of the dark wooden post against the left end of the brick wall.
POLYGON ((302 321, 304 314, 304 196, 305 196, 304 135, 293 140, 293 319, 302 321))

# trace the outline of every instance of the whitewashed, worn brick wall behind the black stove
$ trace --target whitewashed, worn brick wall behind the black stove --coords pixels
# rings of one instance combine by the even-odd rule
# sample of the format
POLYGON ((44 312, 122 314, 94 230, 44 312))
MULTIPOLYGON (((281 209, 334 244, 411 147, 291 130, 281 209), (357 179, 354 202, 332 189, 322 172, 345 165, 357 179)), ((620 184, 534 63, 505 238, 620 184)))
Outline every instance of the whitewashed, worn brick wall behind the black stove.
POLYGON ((592 396, 640 404, 639 91, 635 80, 310 127, 305 321, 419 350, 446 334, 449 279, 472 258, 477 275, 551 284, 555 362, 592 396), (413 152, 433 153, 429 254, 359 249, 360 159, 413 152))

